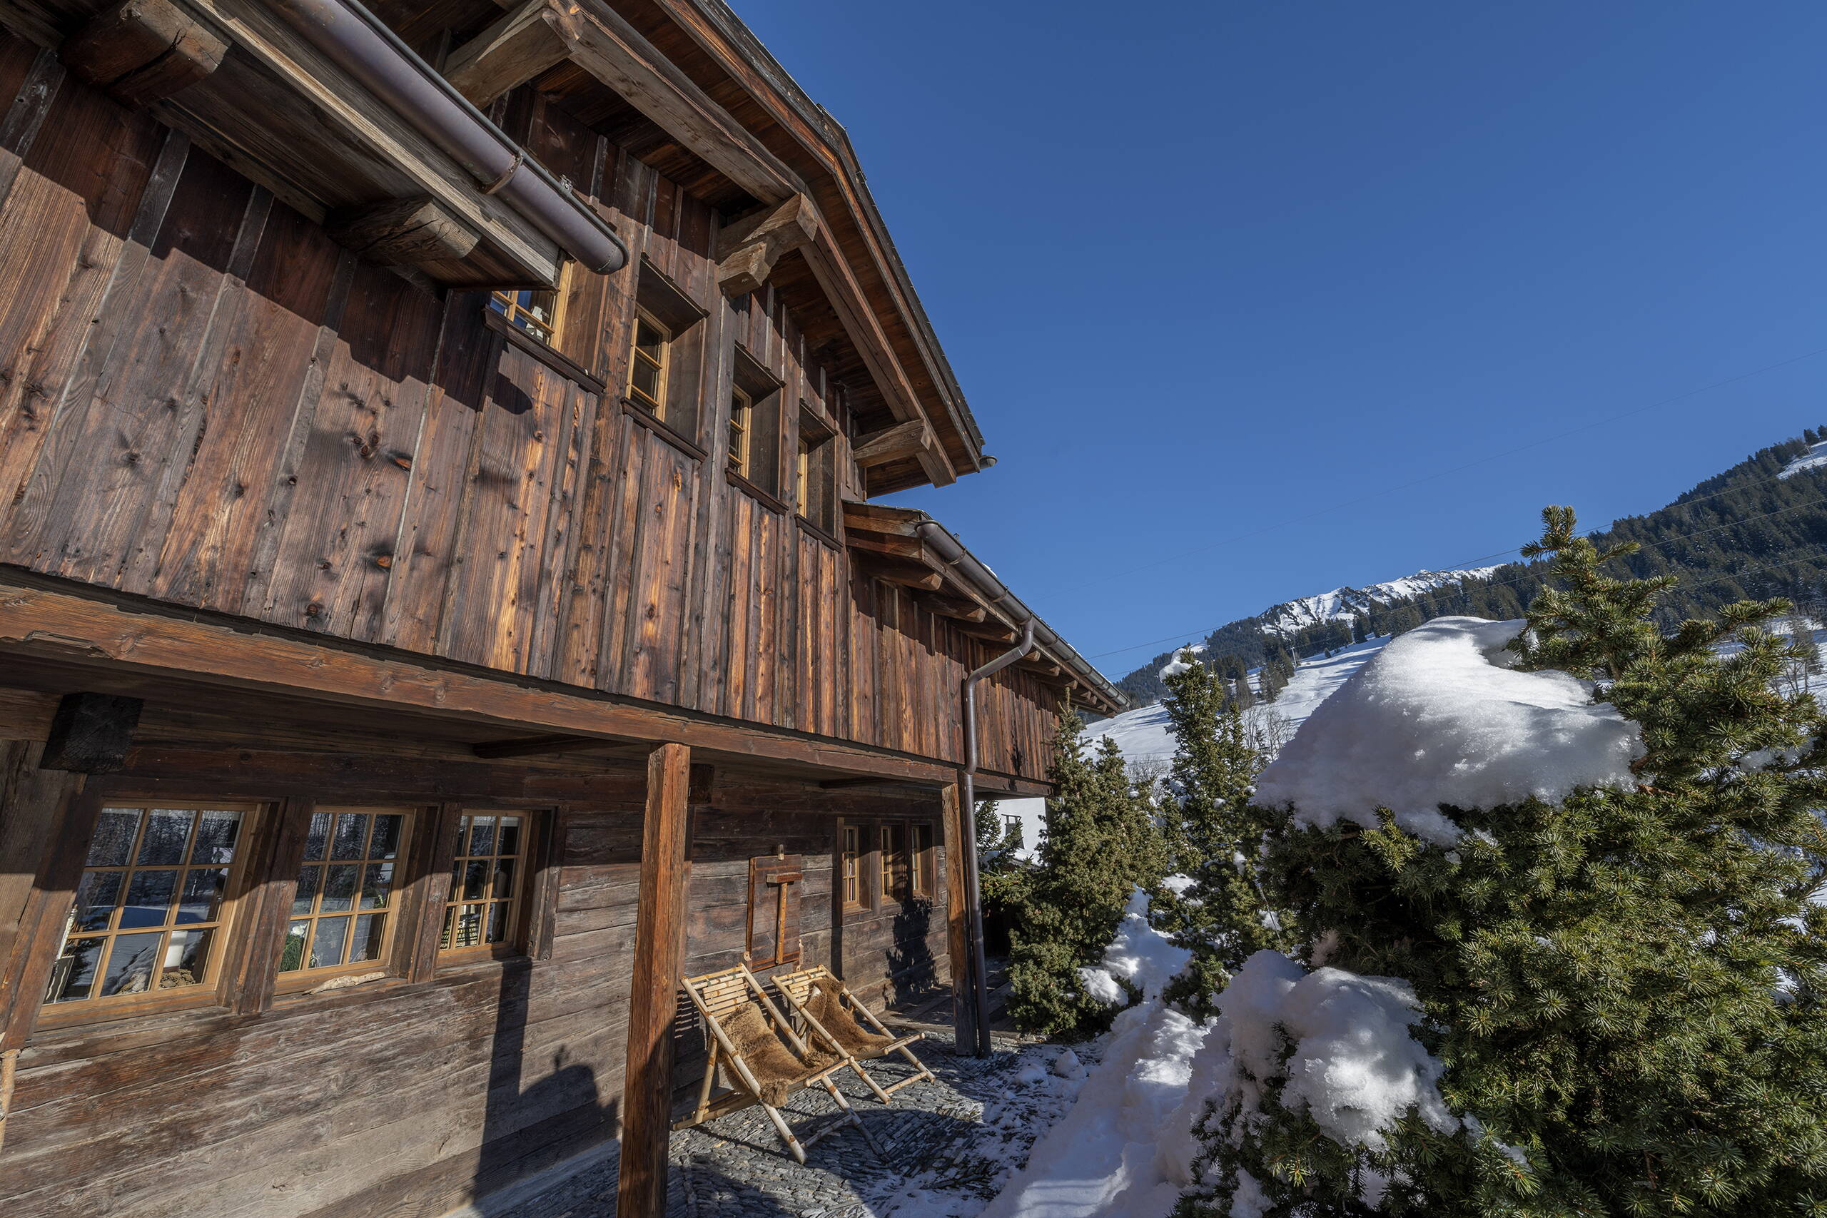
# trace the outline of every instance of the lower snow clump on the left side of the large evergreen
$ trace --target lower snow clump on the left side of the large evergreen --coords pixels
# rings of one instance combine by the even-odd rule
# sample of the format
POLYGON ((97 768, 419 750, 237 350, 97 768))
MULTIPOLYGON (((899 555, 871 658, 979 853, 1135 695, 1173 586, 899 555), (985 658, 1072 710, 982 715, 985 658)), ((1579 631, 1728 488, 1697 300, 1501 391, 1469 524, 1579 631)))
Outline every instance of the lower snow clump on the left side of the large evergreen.
POLYGON ((1286 1070, 1283 1107, 1306 1108, 1339 1145, 1381 1150, 1381 1130, 1410 1108, 1442 1134, 1460 1129, 1440 1097, 1440 1059, 1409 1034, 1421 1004, 1405 981, 1341 968, 1306 971, 1264 950, 1244 961, 1219 995, 1219 1010, 1228 1035, 1211 1037, 1206 1054, 1222 1055, 1230 1077, 1213 1090, 1237 1087, 1251 1110, 1262 1097, 1257 1079, 1286 1070), (1286 1066, 1283 1034, 1295 1043, 1286 1066))

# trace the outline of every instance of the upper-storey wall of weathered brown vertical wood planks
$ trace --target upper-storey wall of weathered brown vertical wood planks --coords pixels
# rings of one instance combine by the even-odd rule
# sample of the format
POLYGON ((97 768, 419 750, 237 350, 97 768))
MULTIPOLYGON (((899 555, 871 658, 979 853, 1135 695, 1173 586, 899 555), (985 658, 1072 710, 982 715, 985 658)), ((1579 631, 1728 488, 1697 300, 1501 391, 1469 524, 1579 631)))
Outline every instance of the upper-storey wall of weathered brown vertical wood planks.
MULTIPOLYGON (((572 276, 577 378, 486 325, 486 294, 358 261, 11 38, 0 86, 0 562, 957 760, 957 685, 992 648, 723 477, 738 345, 782 383, 782 499, 800 404, 842 393, 771 289, 718 292, 705 203, 555 106, 508 106, 705 310, 700 457, 621 405, 636 270, 572 276), (55 84, 55 137, 31 137, 27 73, 55 84)), ((1043 776, 1054 698, 988 683, 985 769, 1043 776)))

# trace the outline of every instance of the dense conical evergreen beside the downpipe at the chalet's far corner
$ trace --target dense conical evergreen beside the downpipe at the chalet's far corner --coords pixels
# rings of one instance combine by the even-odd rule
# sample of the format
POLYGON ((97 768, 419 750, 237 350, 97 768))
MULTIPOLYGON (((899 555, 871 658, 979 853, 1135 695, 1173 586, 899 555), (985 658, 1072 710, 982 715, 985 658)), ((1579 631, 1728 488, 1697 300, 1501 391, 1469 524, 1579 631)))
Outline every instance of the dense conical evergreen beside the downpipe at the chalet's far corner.
POLYGON ((1166 842, 1124 754, 1105 738, 1085 758, 1082 736, 1078 716, 1061 712, 1040 866, 1027 875, 1010 931, 1009 1015, 1045 1035, 1089 1034, 1111 1019, 1111 1008, 1083 992, 1078 970, 1104 957, 1131 889, 1153 891, 1167 873, 1166 842))

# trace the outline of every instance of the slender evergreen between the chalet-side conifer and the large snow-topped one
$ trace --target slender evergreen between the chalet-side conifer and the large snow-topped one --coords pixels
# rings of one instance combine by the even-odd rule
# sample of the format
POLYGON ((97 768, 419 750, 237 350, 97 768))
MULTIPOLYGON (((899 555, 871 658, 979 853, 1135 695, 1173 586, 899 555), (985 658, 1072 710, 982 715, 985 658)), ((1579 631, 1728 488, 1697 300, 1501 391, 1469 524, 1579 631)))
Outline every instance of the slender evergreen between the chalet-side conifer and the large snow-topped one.
POLYGON ((1270 814, 1250 803, 1262 765, 1237 703, 1224 699, 1224 681, 1195 659, 1167 677, 1162 707, 1175 736, 1162 816, 1173 869, 1191 884, 1164 891, 1153 922, 1193 953, 1166 995, 1206 1015, 1250 953, 1284 946, 1255 875, 1270 814))

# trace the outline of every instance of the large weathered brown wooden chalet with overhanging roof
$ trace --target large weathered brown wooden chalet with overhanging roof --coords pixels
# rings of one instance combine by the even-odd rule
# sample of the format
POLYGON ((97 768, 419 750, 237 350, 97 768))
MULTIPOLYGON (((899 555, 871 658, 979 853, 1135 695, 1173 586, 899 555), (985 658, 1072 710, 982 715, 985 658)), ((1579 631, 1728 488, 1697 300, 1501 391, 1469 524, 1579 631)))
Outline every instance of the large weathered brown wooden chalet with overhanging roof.
POLYGON ((680 975, 968 971, 1120 694, 870 502, 992 458, 720 0, 0 0, 0 1214, 658 1214, 680 975))

